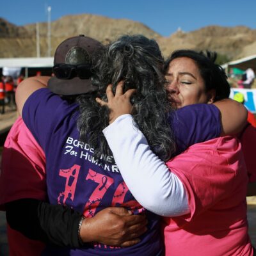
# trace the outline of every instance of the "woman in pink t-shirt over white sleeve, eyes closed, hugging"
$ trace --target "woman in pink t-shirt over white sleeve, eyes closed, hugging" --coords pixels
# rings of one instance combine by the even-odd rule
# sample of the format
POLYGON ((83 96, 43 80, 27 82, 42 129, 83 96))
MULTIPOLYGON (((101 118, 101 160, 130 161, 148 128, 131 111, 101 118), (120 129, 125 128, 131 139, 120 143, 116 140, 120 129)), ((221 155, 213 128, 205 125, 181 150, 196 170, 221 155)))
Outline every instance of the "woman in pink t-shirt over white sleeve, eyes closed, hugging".
MULTIPOLYGON (((225 73, 214 61, 193 51, 180 51, 179 54, 177 58, 171 57, 167 65, 166 89, 173 106, 211 104, 228 97, 225 73)), ((146 209, 166 216, 163 227, 166 255, 252 256, 245 200, 248 175, 239 141, 225 136, 198 143, 166 163, 186 191, 188 211, 179 216, 175 214, 177 209, 169 211, 172 202, 158 204, 162 197, 177 193, 175 189, 168 189, 170 182, 166 177, 156 179, 164 163, 152 156, 143 134, 132 127, 136 125, 125 123, 129 115, 124 114, 131 113, 132 106, 127 100, 131 93, 123 95, 121 88, 116 90, 114 97, 109 90, 108 103, 98 99, 112 111, 111 125, 104 130, 104 135, 136 199, 146 209), (120 134, 128 125, 129 132, 120 134), (137 158, 140 161, 136 161, 137 158), (150 161, 155 163, 154 172, 148 164, 150 161), (148 196, 149 200, 140 200, 140 195, 148 196)))

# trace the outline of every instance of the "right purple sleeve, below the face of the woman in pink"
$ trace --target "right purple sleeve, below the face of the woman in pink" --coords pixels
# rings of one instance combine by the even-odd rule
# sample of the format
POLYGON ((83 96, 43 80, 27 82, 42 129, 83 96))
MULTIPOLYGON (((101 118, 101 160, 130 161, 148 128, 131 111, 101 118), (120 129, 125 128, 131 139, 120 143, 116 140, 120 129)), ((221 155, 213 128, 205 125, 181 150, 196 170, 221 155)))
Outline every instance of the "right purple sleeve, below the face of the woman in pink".
POLYGON ((220 136, 220 110, 214 104, 193 104, 168 117, 177 143, 177 154, 189 146, 220 136))

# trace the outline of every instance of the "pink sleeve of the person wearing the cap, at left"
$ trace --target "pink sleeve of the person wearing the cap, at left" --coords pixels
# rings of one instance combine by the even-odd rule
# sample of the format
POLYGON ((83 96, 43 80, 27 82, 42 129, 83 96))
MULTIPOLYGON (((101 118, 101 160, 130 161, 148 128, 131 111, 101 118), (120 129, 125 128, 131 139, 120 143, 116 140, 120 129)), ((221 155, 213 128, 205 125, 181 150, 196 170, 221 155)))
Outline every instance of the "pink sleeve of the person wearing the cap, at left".
POLYGON ((20 198, 46 198, 45 155, 21 118, 4 143, 0 188, 0 209, 20 198))

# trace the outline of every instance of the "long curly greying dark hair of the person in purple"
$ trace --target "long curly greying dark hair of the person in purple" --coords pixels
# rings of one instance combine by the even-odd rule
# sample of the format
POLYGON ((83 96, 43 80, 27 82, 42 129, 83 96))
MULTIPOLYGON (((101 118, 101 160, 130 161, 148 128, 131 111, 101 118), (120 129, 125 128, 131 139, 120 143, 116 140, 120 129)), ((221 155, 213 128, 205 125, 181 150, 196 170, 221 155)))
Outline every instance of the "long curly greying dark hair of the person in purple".
POLYGON ((163 87, 164 60, 156 41, 141 35, 122 36, 99 54, 92 77, 99 91, 91 98, 78 97, 80 139, 94 148, 96 157, 111 155, 102 133, 109 124, 109 109, 100 107, 95 97, 107 100, 108 84, 113 84, 115 93, 118 82, 124 81, 124 92, 136 88, 132 99, 134 121, 157 156, 170 159, 175 143, 166 118, 170 104, 163 87))

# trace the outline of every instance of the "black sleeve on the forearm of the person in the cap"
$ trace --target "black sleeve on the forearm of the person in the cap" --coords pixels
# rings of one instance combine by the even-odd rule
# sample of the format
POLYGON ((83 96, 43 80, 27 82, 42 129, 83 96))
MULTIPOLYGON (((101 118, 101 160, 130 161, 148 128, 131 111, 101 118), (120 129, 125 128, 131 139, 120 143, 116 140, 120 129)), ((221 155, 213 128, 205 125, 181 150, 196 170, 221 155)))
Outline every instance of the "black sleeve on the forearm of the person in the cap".
POLYGON ((74 248, 83 245, 77 235, 81 214, 63 205, 35 199, 16 200, 6 204, 6 220, 29 239, 74 248))

